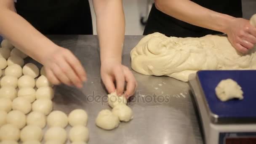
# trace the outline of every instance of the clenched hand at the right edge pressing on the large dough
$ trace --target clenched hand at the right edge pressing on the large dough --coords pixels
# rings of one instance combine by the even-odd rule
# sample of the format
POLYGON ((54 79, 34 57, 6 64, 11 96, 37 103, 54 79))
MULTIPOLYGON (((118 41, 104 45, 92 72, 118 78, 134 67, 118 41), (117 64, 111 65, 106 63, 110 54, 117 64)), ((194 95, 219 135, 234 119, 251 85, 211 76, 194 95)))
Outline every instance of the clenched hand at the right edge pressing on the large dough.
POLYGON ((246 19, 235 18, 225 32, 229 41, 241 53, 247 53, 256 44, 256 27, 246 19))

